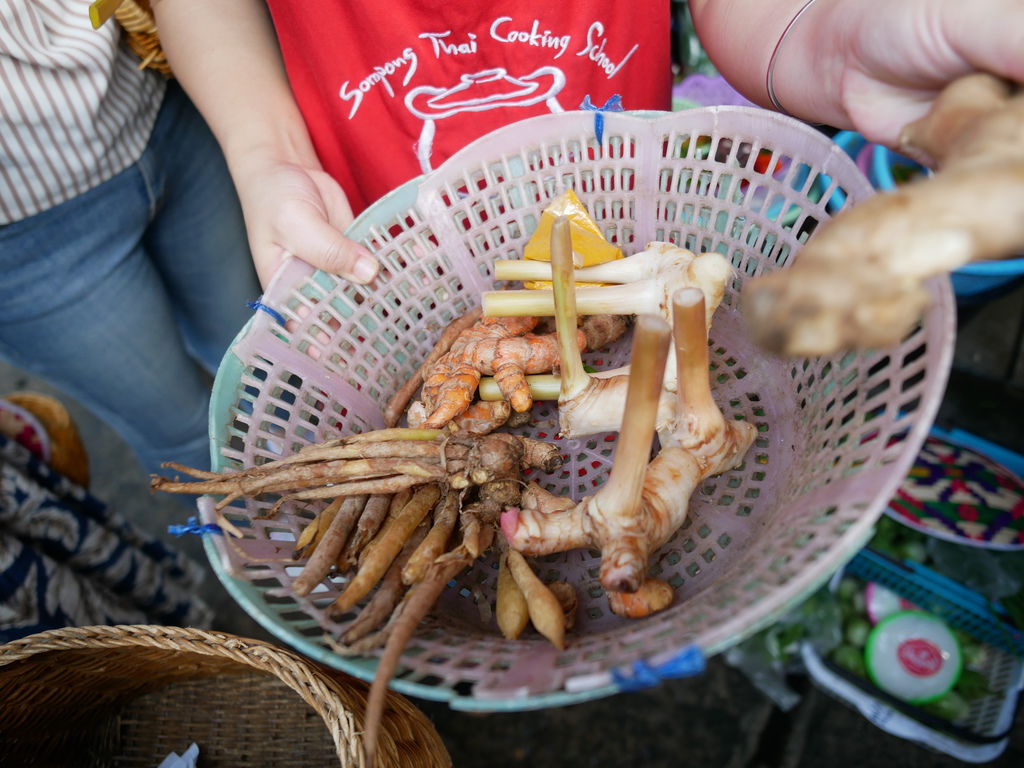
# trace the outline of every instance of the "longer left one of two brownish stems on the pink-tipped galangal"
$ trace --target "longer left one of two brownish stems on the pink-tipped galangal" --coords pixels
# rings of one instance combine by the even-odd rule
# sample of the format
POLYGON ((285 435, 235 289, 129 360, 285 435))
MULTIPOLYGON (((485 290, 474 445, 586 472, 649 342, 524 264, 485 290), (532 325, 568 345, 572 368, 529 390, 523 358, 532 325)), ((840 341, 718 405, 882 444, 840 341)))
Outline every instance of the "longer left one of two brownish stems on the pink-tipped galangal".
POLYGON ((630 516, 639 508, 671 336, 669 324, 657 315, 637 318, 626 392, 625 413, 629 418, 623 420, 611 473, 598 492, 605 512, 630 516))

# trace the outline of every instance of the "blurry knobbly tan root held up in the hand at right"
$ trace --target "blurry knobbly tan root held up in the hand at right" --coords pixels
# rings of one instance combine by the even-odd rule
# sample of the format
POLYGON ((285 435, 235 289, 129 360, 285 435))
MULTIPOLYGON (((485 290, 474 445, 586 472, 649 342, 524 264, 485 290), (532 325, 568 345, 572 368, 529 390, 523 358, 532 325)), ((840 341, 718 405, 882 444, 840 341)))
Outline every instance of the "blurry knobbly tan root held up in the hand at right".
POLYGON ((939 172, 819 228, 788 269, 748 281, 752 338, 784 354, 888 346, 928 305, 923 283, 1024 249, 1024 92, 989 75, 946 87, 899 151, 939 172))

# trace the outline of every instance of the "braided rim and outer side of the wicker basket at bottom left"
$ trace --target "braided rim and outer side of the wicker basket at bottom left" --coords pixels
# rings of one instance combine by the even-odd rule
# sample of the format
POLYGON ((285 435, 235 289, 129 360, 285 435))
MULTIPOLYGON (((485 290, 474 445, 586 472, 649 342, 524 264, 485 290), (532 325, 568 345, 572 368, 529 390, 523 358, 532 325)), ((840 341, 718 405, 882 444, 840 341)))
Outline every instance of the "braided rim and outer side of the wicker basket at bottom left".
MULTIPOLYGON (((62 627, 0 645, 0 676, 5 667, 44 653, 132 647, 214 656, 273 675, 297 693, 327 725, 339 763, 343 766, 364 765, 361 713, 357 718, 349 708, 352 693, 346 693, 345 686, 351 683, 361 689, 365 683, 263 640, 214 630, 160 625, 62 627)), ((404 721, 420 721, 421 727, 416 729, 418 743, 435 759, 437 765, 452 765, 439 734, 419 709, 395 691, 388 691, 388 708, 404 721)))

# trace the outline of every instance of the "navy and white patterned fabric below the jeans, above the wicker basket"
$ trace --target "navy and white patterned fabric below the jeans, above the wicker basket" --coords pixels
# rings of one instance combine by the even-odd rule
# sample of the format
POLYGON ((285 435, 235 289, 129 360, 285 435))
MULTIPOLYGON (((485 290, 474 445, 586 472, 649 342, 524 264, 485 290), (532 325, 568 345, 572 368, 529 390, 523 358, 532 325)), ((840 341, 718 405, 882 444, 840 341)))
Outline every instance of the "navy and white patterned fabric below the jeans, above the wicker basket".
POLYGON ((92 624, 209 627, 202 573, 0 436, 0 642, 92 624))

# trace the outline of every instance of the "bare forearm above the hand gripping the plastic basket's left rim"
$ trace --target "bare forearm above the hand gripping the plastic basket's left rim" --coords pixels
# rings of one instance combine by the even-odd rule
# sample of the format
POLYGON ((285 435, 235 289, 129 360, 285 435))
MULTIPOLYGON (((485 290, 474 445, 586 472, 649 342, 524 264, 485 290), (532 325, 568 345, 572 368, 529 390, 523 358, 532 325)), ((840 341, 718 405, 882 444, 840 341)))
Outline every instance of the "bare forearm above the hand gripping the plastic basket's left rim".
POLYGON ((253 162, 319 167, 261 0, 155 0, 153 10, 174 76, 236 181, 253 162))

